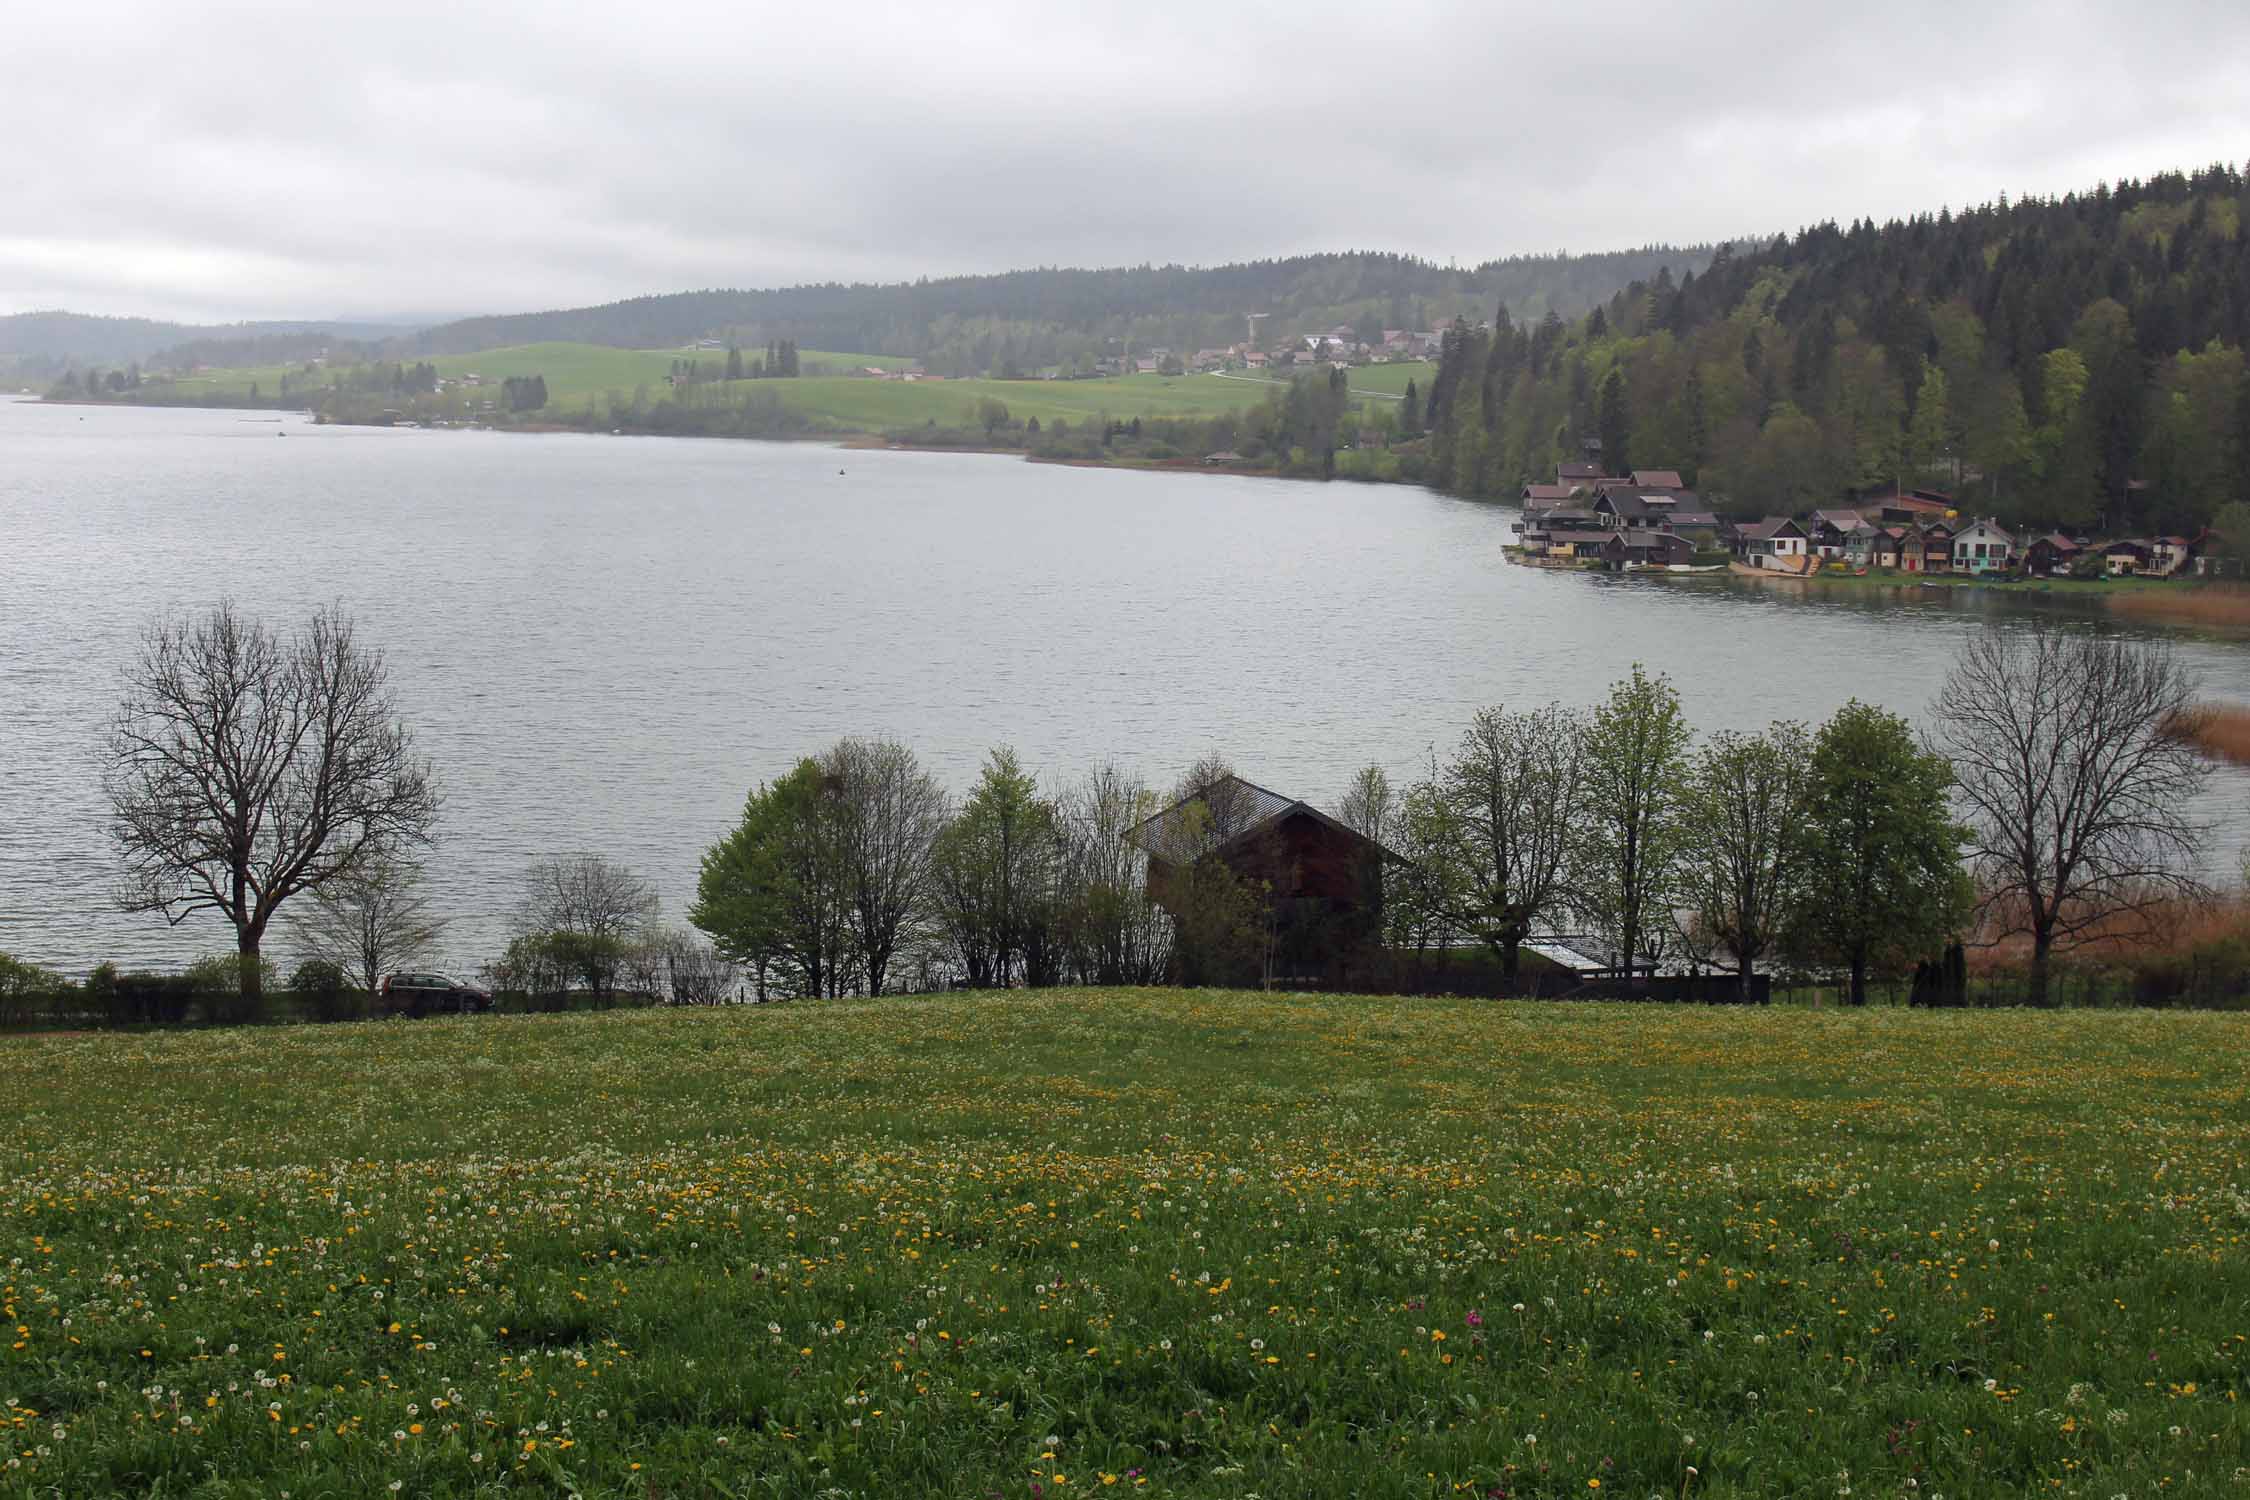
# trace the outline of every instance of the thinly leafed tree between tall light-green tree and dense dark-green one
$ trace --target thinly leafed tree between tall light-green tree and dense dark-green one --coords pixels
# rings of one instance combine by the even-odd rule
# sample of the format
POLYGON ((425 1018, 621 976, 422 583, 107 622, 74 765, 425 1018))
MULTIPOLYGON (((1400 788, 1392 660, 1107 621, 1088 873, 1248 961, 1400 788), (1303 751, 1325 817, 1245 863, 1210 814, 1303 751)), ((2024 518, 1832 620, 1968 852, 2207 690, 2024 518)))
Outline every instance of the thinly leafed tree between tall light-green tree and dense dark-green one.
POLYGON ((1744 996, 1796 895, 1809 762, 1804 726, 1780 722, 1757 735, 1712 735, 1688 776, 1681 897, 1692 936, 1735 956, 1744 996))

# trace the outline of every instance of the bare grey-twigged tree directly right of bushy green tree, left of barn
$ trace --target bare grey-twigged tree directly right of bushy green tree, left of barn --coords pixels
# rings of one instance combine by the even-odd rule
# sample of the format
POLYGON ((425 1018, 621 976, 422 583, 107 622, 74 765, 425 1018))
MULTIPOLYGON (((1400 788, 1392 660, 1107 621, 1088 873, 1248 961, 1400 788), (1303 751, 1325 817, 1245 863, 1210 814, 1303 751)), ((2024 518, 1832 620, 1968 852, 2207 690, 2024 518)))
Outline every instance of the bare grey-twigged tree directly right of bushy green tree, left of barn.
POLYGON ((866 992, 882 994, 900 936, 922 906, 945 828, 945 789, 896 740, 844 740, 821 756, 837 801, 837 855, 866 992))

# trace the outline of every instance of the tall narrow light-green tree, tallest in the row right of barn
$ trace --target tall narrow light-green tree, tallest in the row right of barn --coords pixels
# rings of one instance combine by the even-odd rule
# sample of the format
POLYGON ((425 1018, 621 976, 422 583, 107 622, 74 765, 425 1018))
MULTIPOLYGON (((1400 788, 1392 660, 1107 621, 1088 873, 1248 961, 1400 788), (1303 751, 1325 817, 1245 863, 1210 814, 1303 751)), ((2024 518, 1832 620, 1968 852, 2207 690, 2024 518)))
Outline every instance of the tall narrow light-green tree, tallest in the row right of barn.
POLYGON ((1678 693, 1640 663, 1586 722, 1575 846, 1575 904, 1622 967, 1656 958, 1672 927, 1685 839, 1688 722, 1678 693))

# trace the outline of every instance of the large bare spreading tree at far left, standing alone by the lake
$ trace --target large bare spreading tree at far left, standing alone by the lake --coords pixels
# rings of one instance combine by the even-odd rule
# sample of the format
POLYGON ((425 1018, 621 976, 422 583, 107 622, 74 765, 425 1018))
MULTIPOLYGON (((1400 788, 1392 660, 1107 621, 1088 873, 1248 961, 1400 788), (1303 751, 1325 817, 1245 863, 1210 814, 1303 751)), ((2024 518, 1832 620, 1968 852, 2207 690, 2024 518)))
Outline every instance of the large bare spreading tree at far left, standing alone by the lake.
POLYGON ((245 1005, 284 902, 428 843, 439 792, 382 652, 320 609, 284 639, 223 603, 148 630, 108 740, 119 902, 234 927, 245 1005))

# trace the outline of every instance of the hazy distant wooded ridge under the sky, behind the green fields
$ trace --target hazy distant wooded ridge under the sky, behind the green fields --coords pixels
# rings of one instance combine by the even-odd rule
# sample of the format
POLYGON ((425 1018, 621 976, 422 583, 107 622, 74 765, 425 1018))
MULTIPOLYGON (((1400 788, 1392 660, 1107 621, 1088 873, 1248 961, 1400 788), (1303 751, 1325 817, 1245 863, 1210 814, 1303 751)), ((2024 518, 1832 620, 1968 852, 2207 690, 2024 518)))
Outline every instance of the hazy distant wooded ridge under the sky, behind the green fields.
POLYGON ((1474 270, 1400 254, 1316 254, 1242 265, 1017 270, 889 286, 792 286, 765 292, 675 292, 598 308, 470 317, 403 340, 387 353, 475 353, 547 340, 677 346, 731 337, 745 346, 914 355, 936 373, 999 373, 1073 364, 1120 346, 1206 349, 1354 328, 1431 328, 1505 304, 1510 315, 1575 317, 1634 279, 1703 270, 1712 247, 1654 245, 1604 254, 1514 256, 1474 270))

